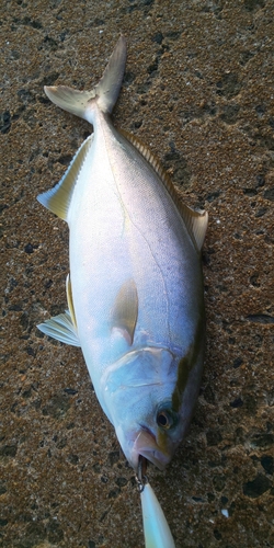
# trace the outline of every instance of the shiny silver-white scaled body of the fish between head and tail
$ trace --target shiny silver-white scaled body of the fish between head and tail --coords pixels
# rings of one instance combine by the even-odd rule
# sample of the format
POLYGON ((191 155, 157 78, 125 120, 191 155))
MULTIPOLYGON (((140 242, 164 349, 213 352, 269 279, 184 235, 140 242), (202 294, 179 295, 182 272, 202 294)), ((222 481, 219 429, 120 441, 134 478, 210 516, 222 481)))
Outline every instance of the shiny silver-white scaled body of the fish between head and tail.
MULTIPOLYGON (((150 341, 178 347, 184 355, 198 313, 192 273, 199 270, 199 258, 176 207, 146 160, 136 151, 134 158, 132 145, 121 137, 114 141, 107 121, 101 122, 98 134, 95 125, 95 135, 94 150, 75 191, 77 207, 72 203, 68 215, 72 294, 83 352, 92 352, 96 333, 100 338, 105 333, 107 341, 115 296, 133 278, 139 301, 136 335, 145 330, 150 341)), ((106 341, 102 340, 102 352, 106 341)), ((113 356, 107 362, 94 359, 104 368, 113 356)))

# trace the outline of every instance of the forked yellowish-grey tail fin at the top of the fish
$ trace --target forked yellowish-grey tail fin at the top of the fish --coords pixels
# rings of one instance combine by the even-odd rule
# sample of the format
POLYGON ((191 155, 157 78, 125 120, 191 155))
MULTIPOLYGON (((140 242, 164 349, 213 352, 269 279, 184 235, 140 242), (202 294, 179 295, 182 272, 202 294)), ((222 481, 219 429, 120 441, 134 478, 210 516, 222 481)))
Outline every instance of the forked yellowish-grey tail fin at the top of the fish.
POLYGON ((100 82, 93 90, 78 91, 67 85, 45 85, 45 93, 57 106, 92 123, 94 101, 102 112, 111 114, 119 94, 125 64, 126 39, 121 36, 100 82))

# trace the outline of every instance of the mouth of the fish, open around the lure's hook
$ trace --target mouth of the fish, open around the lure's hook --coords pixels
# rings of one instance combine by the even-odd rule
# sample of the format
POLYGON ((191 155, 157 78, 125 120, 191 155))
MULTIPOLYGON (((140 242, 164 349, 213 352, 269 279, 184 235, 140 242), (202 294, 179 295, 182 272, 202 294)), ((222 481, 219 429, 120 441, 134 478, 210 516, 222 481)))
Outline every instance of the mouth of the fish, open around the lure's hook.
POLYGON ((170 455, 159 447, 153 433, 144 426, 138 432, 132 448, 130 463, 135 469, 138 467, 140 455, 160 470, 164 470, 171 459, 170 455))

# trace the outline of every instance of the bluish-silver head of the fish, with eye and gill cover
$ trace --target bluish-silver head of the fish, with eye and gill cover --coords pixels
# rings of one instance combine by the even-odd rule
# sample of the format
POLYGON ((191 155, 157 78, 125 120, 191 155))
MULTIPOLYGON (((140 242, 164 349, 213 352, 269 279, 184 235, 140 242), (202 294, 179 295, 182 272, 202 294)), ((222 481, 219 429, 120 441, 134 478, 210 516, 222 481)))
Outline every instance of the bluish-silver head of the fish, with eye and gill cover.
POLYGON ((184 435, 175 396, 181 362, 168 349, 141 347, 107 367, 102 378, 105 406, 135 470, 140 455, 164 469, 184 435))

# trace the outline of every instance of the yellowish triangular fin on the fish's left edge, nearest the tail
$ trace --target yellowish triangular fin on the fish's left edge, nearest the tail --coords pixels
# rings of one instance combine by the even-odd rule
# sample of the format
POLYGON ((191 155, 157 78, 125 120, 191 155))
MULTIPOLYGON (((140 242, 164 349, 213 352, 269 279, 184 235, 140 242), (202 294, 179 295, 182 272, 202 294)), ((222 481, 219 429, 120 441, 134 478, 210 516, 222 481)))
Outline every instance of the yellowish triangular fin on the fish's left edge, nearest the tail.
POLYGON ((50 212, 55 213, 58 217, 67 220, 68 209, 73 194, 73 189, 77 184, 79 173, 82 169, 87 153, 92 145, 93 135, 83 141, 77 151, 73 160, 69 164, 65 175, 58 184, 43 194, 37 196, 37 201, 47 207, 50 212))

